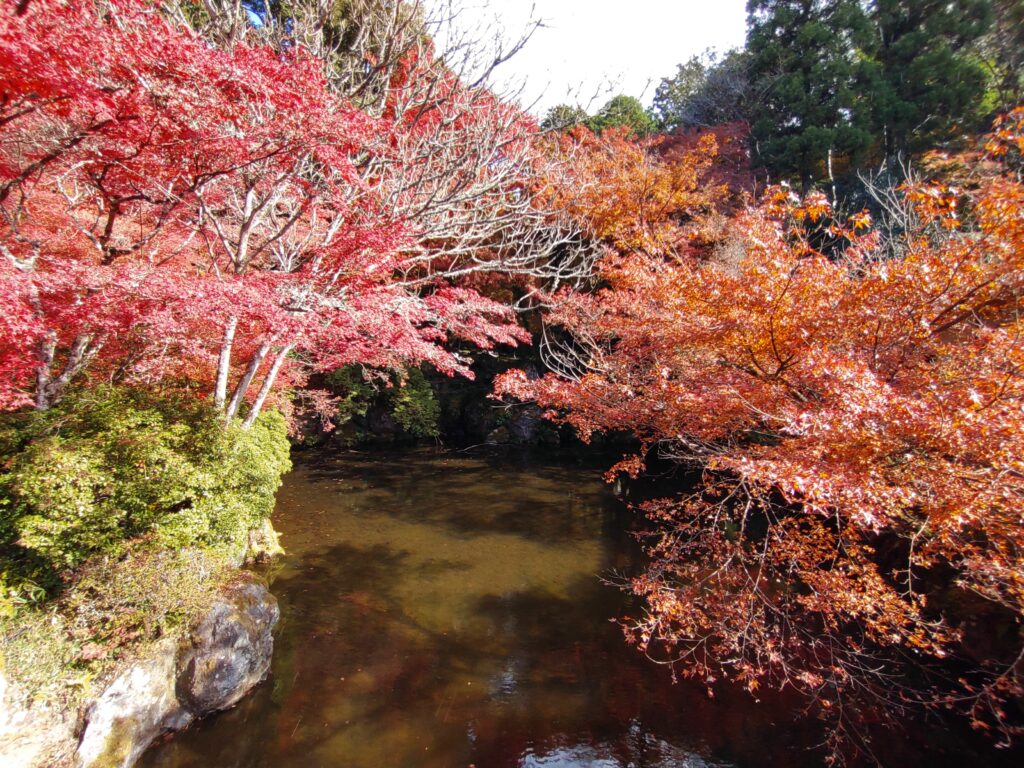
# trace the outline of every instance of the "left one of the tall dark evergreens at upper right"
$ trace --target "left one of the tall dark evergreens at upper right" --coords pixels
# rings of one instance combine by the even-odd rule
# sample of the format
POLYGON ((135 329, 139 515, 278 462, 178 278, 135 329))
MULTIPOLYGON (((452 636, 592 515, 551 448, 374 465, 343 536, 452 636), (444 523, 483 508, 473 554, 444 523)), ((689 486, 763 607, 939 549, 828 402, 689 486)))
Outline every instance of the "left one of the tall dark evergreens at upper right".
POLYGON ((755 160, 806 190, 870 144, 854 88, 867 18, 856 0, 749 0, 746 10, 760 102, 751 126, 755 160))

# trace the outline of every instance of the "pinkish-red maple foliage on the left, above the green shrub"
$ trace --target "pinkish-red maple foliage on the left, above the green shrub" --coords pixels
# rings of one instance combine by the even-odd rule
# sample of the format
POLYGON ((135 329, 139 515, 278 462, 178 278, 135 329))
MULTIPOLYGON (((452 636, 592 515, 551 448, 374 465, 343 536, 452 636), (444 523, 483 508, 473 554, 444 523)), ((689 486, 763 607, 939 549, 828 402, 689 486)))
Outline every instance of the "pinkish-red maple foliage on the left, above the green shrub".
POLYGON ((145 0, 0 13, 0 408, 83 376, 245 395, 264 357, 268 391, 298 366, 468 373, 450 335, 524 340, 505 307, 423 279, 400 185, 367 173, 415 178, 410 136, 508 108, 464 110, 453 80, 419 120, 376 120, 301 50, 219 50, 145 0))

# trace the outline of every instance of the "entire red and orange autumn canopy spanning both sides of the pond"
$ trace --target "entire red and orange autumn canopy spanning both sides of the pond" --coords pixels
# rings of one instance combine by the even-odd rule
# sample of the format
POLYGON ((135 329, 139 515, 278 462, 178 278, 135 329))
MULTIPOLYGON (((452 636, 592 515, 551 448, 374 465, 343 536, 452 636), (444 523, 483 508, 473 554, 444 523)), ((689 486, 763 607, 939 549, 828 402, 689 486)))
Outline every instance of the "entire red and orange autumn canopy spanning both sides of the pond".
POLYGON ((835 199, 838 139, 798 196, 732 111, 542 129, 397 11, 345 63, 159 5, 0 9, 0 411, 120 387, 330 426, 325 374, 471 377, 466 349, 536 341, 549 373, 495 398, 628 435, 609 476, 699 477, 640 505, 644 652, 799 690, 834 756, 913 708, 1018 735, 1024 110, 865 180, 869 212, 835 199))

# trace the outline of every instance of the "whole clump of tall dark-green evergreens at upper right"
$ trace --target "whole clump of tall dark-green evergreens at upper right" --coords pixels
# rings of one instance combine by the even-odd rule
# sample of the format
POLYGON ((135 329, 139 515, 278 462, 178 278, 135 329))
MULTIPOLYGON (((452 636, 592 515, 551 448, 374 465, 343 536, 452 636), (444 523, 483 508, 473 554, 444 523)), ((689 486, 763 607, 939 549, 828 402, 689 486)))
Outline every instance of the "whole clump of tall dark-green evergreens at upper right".
POLYGON ((749 0, 757 162, 806 188, 974 133, 1019 92, 1019 5, 749 0))

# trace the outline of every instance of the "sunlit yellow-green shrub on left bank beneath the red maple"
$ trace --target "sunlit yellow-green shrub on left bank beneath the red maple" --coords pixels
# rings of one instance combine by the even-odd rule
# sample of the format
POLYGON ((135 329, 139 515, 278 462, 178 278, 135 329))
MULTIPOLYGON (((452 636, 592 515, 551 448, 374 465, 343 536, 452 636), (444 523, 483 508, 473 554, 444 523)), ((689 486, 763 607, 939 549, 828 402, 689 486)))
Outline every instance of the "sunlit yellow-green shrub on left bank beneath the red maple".
POLYGON ((119 388, 9 417, 0 449, 8 600, 142 537, 158 549, 240 548, 290 467, 280 414, 225 429, 202 401, 119 388))

